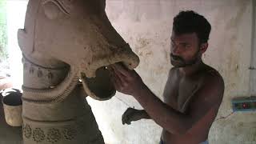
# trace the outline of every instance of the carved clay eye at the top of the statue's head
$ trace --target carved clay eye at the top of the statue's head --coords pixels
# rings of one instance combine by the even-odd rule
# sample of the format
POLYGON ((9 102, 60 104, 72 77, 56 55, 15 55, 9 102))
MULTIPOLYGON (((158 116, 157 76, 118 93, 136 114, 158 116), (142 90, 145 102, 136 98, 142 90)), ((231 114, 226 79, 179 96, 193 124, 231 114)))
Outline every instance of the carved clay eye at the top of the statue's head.
POLYGON ((58 18, 62 14, 70 14, 65 6, 63 6, 62 2, 59 2, 58 0, 46 0, 42 2, 42 7, 46 17, 49 19, 58 18))

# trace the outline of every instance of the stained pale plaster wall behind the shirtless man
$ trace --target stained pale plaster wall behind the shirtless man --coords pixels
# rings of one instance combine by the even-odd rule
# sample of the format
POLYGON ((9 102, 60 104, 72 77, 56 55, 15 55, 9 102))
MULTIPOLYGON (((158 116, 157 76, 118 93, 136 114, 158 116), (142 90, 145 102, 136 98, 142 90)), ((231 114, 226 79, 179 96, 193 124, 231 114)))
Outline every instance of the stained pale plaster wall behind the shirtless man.
MULTIPOLYGON (((225 95, 213 123, 210 143, 256 143, 255 113, 234 113, 231 99, 250 96, 253 0, 106 0, 106 13, 114 28, 140 57, 136 69, 147 86, 162 99, 170 70, 170 34, 180 10, 204 15, 212 26, 206 64, 225 81, 225 95), (222 118, 225 117, 225 118, 222 118)), ((129 95, 117 93, 106 102, 87 98, 106 143, 158 143, 162 128, 152 120, 122 125, 127 107, 142 109, 129 95)))

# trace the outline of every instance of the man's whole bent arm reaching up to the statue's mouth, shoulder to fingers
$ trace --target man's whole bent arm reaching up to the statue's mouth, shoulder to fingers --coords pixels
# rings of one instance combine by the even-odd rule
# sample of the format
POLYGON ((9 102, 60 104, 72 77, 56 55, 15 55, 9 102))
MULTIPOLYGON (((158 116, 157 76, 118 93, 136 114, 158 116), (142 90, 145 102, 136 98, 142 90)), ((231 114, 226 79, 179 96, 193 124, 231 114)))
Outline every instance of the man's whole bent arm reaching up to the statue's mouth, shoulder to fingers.
POLYGON ((194 95, 196 101, 190 106, 189 113, 182 114, 156 97, 134 70, 126 70, 118 65, 113 66, 112 70, 115 88, 124 94, 133 95, 150 118, 172 134, 186 133, 199 118, 210 112, 216 115, 222 101, 224 90, 222 78, 212 77, 194 95))

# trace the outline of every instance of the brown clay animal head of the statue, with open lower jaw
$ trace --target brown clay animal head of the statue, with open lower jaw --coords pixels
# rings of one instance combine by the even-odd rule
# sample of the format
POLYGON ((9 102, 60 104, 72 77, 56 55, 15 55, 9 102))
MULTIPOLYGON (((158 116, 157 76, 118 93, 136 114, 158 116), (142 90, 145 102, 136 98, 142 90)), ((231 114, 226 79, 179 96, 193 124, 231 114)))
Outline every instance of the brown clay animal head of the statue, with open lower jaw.
POLYGON ((114 30, 105 0, 30 0, 25 29, 18 31, 24 55, 34 52, 75 67, 86 82, 86 93, 110 98, 115 90, 106 66, 123 62, 138 66, 138 56, 114 30))

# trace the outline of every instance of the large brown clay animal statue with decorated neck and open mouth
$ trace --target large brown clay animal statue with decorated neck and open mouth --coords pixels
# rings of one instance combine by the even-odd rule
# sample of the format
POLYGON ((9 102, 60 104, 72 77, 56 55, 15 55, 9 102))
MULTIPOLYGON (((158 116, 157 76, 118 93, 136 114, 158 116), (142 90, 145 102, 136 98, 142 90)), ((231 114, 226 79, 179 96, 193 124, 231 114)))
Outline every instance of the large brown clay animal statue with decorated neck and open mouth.
POLYGON ((106 66, 138 66, 138 56, 111 26, 105 0, 30 0, 23 54, 24 144, 104 143, 85 97, 114 96, 106 66))

